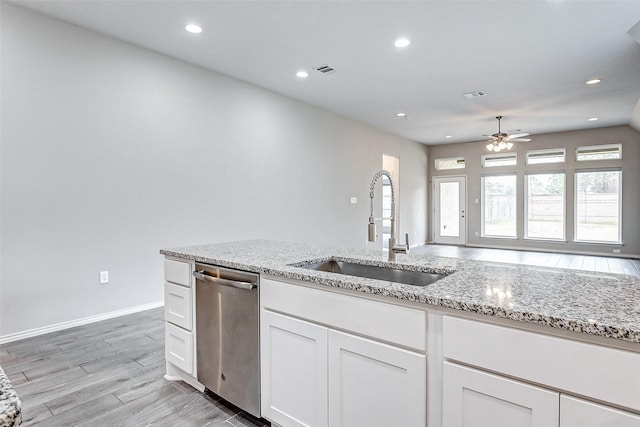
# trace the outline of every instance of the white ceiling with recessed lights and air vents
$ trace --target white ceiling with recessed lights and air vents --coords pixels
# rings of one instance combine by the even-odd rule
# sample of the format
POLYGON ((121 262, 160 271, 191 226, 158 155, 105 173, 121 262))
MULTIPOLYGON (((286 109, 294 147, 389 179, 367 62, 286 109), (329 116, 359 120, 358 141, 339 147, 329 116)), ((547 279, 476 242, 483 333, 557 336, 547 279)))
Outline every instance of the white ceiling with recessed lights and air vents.
POLYGON ((640 44, 627 34, 638 0, 16 4, 427 144, 482 140, 496 115, 534 142, 628 124, 640 99, 640 44), (400 36, 411 45, 394 47, 400 36), (337 72, 313 71, 324 64, 337 72), (487 95, 463 96, 475 90, 487 95))

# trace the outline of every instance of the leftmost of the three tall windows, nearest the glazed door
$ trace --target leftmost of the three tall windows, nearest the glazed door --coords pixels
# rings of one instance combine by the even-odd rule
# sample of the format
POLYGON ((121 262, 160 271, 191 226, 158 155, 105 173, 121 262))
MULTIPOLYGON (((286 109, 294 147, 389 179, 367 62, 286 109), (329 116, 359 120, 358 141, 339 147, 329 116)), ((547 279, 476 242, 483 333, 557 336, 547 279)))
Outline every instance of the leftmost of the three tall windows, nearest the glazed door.
POLYGON ((482 177, 482 236, 516 237, 516 176, 482 177))

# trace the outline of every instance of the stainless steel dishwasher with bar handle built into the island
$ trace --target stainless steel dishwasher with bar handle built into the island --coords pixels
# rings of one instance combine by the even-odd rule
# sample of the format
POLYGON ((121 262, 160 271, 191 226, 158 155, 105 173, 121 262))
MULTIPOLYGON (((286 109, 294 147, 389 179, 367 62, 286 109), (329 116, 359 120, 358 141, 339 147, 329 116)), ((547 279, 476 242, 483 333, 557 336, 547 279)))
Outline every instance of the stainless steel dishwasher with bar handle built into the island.
POLYGON ((196 263, 198 381, 260 417, 259 276, 196 263))

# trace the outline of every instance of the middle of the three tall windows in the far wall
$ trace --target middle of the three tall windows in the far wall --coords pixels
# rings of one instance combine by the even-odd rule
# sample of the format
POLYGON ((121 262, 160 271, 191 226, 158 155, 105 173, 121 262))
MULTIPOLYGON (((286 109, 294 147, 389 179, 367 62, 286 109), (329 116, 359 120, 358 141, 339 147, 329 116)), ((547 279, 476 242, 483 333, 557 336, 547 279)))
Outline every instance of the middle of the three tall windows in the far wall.
POLYGON ((525 236, 564 240, 564 173, 526 176, 525 236))

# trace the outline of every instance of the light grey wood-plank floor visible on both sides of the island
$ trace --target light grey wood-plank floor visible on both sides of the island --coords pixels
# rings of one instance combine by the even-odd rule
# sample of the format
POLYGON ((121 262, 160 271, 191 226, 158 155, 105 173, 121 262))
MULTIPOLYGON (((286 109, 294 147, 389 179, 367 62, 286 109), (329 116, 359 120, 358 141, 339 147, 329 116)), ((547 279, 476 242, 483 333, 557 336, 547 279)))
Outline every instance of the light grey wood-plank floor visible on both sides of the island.
MULTIPOLYGON (((414 254, 640 276, 640 260, 426 245, 414 254)), ((211 393, 166 381, 163 309, 0 347, 26 426, 262 426, 211 393)))

